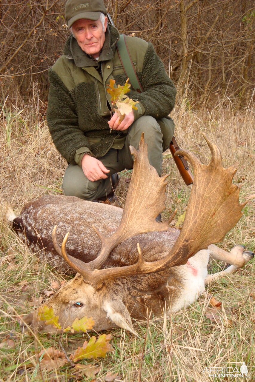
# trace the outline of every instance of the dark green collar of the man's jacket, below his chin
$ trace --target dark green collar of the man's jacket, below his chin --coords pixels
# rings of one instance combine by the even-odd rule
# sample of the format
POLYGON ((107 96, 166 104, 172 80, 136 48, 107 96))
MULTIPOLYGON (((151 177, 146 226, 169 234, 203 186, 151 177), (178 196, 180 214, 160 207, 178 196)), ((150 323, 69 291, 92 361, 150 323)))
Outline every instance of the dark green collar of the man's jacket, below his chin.
POLYGON ((78 68, 97 66, 100 61, 112 60, 116 49, 115 45, 119 38, 119 31, 114 26, 108 24, 106 29, 106 40, 98 61, 95 61, 81 50, 76 39, 71 35, 65 43, 64 55, 67 58, 74 60, 75 65, 78 66, 78 68))

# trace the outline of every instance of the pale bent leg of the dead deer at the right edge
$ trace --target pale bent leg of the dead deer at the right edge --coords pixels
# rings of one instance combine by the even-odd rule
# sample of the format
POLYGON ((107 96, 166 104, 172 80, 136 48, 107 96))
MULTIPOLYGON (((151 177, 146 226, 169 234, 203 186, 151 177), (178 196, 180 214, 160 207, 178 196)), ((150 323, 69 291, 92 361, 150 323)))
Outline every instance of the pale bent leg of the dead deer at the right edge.
POLYGON ((208 249, 210 256, 214 260, 224 261, 231 265, 221 272, 207 275, 205 278, 205 285, 215 282, 220 277, 236 273, 239 268, 242 268, 254 256, 253 252, 244 251, 245 247, 242 245, 235 245, 230 253, 213 244, 208 246, 208 249))

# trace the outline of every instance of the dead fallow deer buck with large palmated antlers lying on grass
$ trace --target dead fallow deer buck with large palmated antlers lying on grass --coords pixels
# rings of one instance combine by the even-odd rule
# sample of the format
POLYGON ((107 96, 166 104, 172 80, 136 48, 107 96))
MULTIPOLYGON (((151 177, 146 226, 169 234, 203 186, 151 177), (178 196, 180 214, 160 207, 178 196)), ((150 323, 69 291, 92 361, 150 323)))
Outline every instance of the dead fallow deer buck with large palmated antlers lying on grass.
MULTIPOLYGON (((169 228, 170 220, 155 220, 164 209, 167 176, 159 178, 149 165, 143 137, 139 151, 130 147, 135 161, 123 210, 76 197, 44 196, 29 202, 19 217, 9 214, 18 235, 41 258, 58 271, 78 272, 47 301, 62 328, 88 316, 96 331, 119 326, 136 333, 132 319, 145 319, 147 309, 155 316, 182 309, 205 285, 252 258, 243 246, 227 253, 213 245, 236 225, 245 203, 239 204, 239 188, 232 183, 236 170, 224 169, 218 147, 205 139, 209 165, 191 152, 178 152, 192 164, 195 178, 181 231, 169 228), (209 256, 232 265, 208 275, 209 256)), ((35 314, 26 316, 23 325, 34 322, 35 314)), ((39 329, 54 330, 43 324, 39 329)))

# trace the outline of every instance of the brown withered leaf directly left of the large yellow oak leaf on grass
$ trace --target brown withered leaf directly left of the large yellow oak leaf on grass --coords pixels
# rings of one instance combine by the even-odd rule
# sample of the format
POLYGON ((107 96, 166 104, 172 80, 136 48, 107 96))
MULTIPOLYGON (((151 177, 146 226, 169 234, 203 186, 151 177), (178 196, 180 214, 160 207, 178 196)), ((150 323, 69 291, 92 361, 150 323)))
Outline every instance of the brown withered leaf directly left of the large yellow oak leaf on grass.
POLYGON ((41 369, 47 371, 59 369, 68 362, 65 353, 53 347, 40 351, 38 356, 39 359, 42 357, 40 362, 41 369))

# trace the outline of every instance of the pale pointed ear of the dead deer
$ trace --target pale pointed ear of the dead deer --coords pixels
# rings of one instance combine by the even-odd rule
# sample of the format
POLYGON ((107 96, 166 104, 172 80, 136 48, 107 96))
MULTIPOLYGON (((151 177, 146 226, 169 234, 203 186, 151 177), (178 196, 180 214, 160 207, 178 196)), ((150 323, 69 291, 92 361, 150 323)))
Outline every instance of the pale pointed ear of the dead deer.
POLYGON ((104 311, 106 311, 107 317, 114 322, 114 324, 138 336, 138 333, 136 333, 133 328, 130 314, 123 304, 122 299, 110 299, 106 301, 104 303, 104 311))

